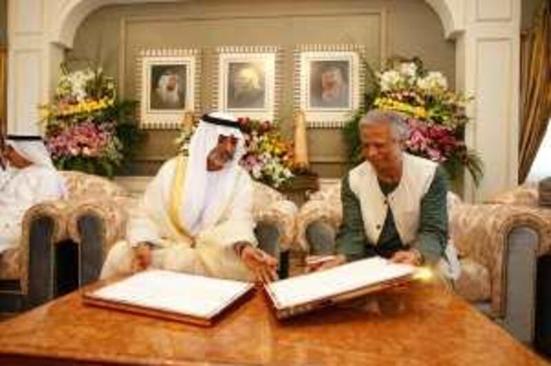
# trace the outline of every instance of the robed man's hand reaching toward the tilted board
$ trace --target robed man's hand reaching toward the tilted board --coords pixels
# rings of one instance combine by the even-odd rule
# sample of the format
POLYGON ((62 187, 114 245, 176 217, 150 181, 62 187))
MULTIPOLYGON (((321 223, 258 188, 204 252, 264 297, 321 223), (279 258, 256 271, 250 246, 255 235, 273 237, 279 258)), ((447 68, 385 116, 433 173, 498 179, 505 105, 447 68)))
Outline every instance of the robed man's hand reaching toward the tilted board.
POLYGON ((243 263, 255 274, 258 281, 269 283, 278 279, 278 261, 273 256, 250 243, 236 243, 235 247, 243 263))

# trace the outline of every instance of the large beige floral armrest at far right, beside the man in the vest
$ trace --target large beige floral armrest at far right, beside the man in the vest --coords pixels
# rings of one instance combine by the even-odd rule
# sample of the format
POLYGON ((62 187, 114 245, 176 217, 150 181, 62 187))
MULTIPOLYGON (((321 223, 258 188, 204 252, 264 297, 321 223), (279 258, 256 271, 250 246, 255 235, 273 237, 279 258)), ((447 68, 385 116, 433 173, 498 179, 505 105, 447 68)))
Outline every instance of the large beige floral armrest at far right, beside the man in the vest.
POLYGON ((450 235, 459 253, 488 269, 494 314, 505 311, 510 233, 520 227, 537 233, 540 248, 549 240, 550 228, 529 207, 465 204, 450 212, 450 235))

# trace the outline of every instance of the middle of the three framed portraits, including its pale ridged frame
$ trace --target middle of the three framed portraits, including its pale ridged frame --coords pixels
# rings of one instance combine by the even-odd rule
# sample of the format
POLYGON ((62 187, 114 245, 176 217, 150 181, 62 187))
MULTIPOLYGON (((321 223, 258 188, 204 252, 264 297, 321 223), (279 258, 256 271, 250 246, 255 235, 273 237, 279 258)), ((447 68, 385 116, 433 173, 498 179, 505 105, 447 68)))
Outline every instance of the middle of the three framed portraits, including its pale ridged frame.
POLYGON ((275 119, 280 50, 275 46, 227 46, 216 52, 214 108, 237 117, 275 119))

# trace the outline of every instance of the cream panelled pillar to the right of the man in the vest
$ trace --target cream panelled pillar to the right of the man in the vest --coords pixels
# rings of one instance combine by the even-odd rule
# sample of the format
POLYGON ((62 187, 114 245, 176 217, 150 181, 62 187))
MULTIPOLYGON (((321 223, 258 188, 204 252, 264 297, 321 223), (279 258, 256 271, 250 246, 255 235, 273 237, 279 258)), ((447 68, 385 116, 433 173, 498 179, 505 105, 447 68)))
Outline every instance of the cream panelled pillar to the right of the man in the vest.
POLYGON ((464 0, 465 28, 457 35, 457 88, 475 97, 468 114, 468 146, 484 161, 465 197, 483 201, 517 185, 519 141, 520 0, 464 0))

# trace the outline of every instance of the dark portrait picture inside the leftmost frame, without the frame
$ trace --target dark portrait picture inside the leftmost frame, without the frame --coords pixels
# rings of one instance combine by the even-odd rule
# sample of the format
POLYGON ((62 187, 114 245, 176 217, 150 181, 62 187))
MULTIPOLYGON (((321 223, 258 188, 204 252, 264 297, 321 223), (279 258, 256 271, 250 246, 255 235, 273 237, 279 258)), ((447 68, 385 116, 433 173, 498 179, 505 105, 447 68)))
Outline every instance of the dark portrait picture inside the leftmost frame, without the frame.
POLYGON ((153 65, 150 81, 149 109, 185 109, 187 65, 153 65))

